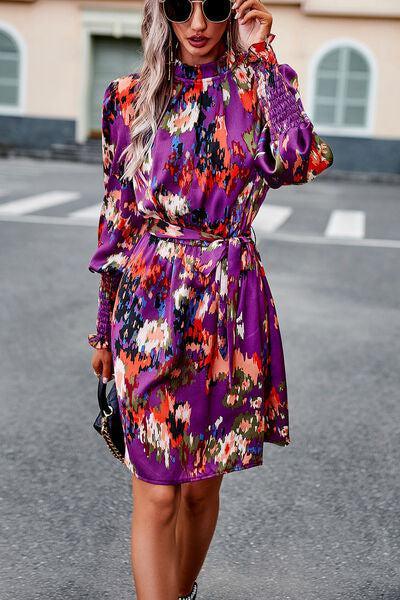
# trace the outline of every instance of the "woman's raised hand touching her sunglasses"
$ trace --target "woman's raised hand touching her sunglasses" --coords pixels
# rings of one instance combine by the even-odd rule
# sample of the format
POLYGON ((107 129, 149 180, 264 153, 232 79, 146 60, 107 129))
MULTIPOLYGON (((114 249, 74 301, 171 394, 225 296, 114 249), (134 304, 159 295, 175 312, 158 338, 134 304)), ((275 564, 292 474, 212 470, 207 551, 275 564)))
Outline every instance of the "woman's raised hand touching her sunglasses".
POLYGON ((256 42, 262 42, 271 31, 272 15, 261 0, 235 0, 232 4, 237 15, 240 40, 248 49, 256 42))

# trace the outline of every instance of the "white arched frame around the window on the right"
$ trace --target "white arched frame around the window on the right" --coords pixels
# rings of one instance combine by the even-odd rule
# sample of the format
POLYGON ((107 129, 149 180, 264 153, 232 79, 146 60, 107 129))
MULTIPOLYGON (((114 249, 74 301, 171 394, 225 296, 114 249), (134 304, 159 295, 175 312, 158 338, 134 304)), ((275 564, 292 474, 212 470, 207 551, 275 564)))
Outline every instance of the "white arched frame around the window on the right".
POLYGON ((378 85, 378 69, 376 59, 371 50, 362 44, 361 42, 352 38, 335 38, 330 40, 312 56, 309 64, 308 72, 309 81, 309 98, 311 98, 311 111, 310 118, 314 123, 314 126, 321 135, 340 135, 343 137, 365 137, 373 134, 374 131, 374 116, 375 116, 375 103, 376 103, 376 89, 378 85), (331 126, 325 123, 319 123, 315 120, 315 104, 316 104, 316 89, 317 89, 317 76, 318 67, 320 61, 325 55, 331 50, 338 50, 340 48, 347 47, 359 52, 367 61, 370 71, 370 81, 367 96, 367 115, 366 124, 362 127, 346 127, 346 126, 331 126))

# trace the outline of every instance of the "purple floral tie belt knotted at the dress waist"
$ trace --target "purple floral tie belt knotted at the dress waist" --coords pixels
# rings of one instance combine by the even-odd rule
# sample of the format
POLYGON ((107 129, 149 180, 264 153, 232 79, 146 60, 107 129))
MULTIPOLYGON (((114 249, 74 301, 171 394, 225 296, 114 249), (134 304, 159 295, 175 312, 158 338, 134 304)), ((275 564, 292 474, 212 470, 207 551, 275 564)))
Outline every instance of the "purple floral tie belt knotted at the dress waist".
MULTIPOLYGON (((218 236, 213 233, 179 227, 156 220, 148 228, 150 234, 163 239, 173 241, 201 240, 208 242, 212 247, 206 248, 199 258, 199 270, 203 275, 210 275, 216 269, 218 263, 227 257, 227 349, 228 349, 228 380, 229 385, 233 382, 233 354, 235 350, 235 329, 238 296, 240 290, 240 271, 242 266, 242 250, 245 247, 249 255, 261 262, 257 251, 255 240, 251 237, 251 230, 244 233, 235 233, 229 237, 218 236)), ((254 231, 254 230, 253 230, 254 231)))

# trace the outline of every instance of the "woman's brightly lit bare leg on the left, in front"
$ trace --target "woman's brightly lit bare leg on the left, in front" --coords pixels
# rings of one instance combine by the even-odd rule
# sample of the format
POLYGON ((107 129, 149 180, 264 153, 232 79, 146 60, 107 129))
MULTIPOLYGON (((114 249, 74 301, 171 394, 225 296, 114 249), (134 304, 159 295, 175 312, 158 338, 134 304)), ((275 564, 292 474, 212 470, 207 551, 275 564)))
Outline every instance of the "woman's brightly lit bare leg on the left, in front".
POLYGON ((132 475, 132 573, 138 600, 177 600, 175 527, 179 485, 156 485, 132 475))

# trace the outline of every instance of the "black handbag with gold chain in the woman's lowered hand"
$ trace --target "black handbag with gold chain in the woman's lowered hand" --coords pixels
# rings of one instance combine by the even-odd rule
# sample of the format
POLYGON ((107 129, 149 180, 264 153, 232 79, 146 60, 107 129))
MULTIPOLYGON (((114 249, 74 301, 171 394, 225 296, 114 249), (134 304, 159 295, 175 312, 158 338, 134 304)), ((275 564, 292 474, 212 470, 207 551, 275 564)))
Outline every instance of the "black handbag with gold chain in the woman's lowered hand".
POLYGON ((95 430, 104 438, 110 451, 122 463, 125 455, 124 431, 119 412, 115 381, 107 394, 107 384, 99 377, 97 399, 100 412, 93 423, 95 430))

